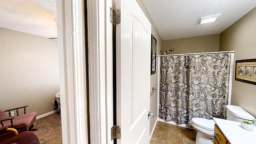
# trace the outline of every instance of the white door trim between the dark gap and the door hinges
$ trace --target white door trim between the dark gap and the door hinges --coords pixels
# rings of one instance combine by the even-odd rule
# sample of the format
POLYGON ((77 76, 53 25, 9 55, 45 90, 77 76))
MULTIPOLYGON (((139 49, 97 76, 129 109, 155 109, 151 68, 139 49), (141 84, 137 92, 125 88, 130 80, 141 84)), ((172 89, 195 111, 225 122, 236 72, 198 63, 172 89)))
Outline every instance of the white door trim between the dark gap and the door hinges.
POLYGON ((109 7, 112 0, 87 0, 89 104, 91 144, 112 144, 113 55, 112 24, 109 7))

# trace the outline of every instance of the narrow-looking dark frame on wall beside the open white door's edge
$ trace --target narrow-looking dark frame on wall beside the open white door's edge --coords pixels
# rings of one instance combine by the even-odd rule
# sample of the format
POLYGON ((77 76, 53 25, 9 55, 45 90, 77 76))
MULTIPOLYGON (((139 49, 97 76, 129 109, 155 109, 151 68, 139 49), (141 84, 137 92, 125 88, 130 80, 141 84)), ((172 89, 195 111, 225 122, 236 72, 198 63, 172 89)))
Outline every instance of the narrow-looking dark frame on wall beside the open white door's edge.
POLYGON ((151 75, 156 73, 156 38, 151 34, 151 75))

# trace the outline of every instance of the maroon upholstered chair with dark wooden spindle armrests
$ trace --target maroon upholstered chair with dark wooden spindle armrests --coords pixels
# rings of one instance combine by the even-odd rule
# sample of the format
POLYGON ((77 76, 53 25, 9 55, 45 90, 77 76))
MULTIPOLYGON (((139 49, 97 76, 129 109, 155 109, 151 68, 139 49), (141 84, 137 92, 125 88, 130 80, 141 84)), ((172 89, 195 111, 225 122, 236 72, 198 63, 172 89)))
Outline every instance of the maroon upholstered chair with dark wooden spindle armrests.
MULTIPOLYGON (((0 123, 2 127, 7 126, 8 128, 15 128, 19 133, 29 130, 33 127, 33 122, 36 120, 36 112, 28 112, 26 113, 26 107, 22 106, 19 108, 14 108, 10 110, 2 110, 0 108, 0 123), (24 113, 19 114, 19 109, 23 109, 24 113), (16 110, 16 116, 11 117, 11 111, 16 110), (6 118, 5 113, 9 113, 9 117, 6 118)), ((12 135, 11 132, 4 133, 5 136, 8 136, 8 133, 12 135)), ((7 137, 4 137, 3 134, 0 134, 0 142, 6 140, 7 137)))

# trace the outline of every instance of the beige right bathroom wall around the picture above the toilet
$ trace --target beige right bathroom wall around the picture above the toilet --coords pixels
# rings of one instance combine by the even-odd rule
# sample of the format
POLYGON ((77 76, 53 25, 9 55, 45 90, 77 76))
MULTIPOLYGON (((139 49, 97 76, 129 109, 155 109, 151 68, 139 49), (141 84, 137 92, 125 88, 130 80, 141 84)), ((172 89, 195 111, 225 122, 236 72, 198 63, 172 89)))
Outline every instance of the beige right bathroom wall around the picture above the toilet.
MULTIPOLYGON (((256 58, 256 8, 220 34, 220 50, 234 50, 234 60, 256 58)), ((256 85, 234 80, 233 75, 231 104, 256 117, 255 102, 256 85)))

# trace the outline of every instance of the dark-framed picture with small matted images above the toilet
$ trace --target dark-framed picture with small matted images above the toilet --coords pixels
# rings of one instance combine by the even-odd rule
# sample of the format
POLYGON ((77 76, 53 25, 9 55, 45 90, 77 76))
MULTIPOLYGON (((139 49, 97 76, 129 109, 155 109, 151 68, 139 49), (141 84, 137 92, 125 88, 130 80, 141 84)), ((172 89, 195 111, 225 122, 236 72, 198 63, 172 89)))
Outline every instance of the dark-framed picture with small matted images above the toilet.
POLYGON ((236 60, 235 80, 256 85, 256 58, 236 60))

